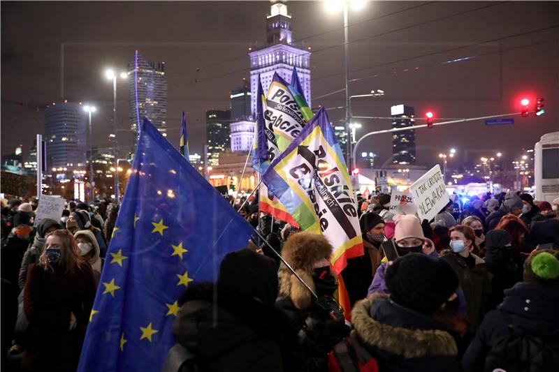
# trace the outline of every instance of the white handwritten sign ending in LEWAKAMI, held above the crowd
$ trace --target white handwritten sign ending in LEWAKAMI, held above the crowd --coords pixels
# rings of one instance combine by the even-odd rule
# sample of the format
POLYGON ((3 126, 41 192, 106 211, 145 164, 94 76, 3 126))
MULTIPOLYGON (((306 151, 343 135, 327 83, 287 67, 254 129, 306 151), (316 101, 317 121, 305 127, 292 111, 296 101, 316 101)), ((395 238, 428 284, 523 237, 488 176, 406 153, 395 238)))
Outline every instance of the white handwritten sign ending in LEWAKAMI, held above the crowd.
POLYGON ((438 164, 409 186, 409 190, 412 191, 421 220, 431 221, 449 203, 449 193, 438 164))

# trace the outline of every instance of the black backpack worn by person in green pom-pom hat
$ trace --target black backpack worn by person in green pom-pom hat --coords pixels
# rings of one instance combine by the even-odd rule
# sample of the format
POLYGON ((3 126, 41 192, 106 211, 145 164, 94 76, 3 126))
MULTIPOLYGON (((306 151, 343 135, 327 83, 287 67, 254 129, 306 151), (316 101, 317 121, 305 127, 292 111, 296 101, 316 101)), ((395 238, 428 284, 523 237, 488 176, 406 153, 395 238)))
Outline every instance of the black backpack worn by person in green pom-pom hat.
POLYGON ((559 350, 540 336, 509 325, 511 334, 495 343, 485 359, 486 372, 557 371, 559 350))

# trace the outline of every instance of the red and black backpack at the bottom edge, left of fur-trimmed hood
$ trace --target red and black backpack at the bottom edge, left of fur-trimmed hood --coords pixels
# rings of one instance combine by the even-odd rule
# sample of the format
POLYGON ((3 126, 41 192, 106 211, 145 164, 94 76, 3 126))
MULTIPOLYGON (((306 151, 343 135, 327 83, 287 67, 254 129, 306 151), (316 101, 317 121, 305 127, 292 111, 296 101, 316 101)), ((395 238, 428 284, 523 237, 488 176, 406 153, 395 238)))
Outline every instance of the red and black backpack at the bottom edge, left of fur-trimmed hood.
POLYGON ((331 372, 378 372, 379 364, 368 352, 355 331, 335 345, 328 354, 328 371, 331 372))

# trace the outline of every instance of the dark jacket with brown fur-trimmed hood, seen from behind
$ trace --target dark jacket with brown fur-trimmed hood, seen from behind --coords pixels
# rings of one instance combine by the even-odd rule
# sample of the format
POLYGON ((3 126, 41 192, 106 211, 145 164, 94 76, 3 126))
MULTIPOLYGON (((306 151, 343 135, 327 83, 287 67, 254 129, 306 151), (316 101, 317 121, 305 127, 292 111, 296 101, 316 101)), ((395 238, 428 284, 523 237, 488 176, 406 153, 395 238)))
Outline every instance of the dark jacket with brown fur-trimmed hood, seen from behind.
POLYGON ((460 371, 454 338, 435 320, 375 293, 351 311, 354 333, 379 371, 460 371))

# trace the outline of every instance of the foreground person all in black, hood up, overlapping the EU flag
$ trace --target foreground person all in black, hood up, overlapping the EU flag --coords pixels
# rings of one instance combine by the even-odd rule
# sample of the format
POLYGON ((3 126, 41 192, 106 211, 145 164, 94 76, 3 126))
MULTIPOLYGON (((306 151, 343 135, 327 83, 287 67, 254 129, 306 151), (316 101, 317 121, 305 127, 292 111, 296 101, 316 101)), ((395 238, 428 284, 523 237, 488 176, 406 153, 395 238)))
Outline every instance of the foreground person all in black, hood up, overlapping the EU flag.
POLYGON ((172 368, 169 356, 164 371, 292 371, 295 341, 274 307, 277 290, 272 259, 248 248, 228 253, 216 288, 193 283, 182 295, 172 332, 183 357, 172 368))

